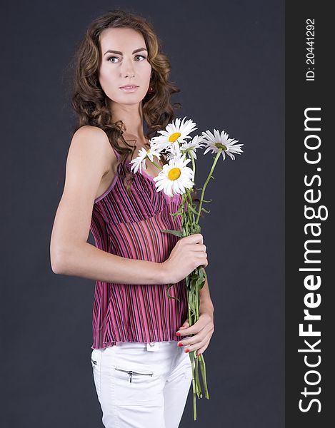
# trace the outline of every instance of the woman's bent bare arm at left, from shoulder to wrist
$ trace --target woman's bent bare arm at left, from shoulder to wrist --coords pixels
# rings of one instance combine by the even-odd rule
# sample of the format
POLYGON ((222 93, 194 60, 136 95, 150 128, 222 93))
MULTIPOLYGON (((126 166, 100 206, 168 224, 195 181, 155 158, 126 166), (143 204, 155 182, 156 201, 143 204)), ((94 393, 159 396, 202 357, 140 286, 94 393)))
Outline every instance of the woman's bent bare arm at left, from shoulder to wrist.
POLYGON ((76 131, 51 233, 51 268, 62 275, 116 284, 166 284, 169 281, 162 263, 123 258, 87 242, 101 178, 116 161, 104 131, 92 126, 76 131))

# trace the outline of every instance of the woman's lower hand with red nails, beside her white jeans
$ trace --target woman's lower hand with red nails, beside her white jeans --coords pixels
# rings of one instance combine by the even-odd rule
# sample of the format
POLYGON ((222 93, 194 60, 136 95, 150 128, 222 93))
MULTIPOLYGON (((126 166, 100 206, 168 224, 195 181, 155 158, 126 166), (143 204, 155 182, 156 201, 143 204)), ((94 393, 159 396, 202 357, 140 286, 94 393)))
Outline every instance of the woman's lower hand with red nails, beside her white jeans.
MULTIPOLYGON (((182 343, 182 345, 186 346, 186 350, 195 351, 196 355, 203 354, 207 349, 209 342, 211 340, 211 336, 214 333, 214 312, 209 307, 199 307, 199 320, 196 321, 194 325, 189 326, 189 319, 187 319, 184 324, 180 327, 181 336, 189 336, 194 334, 192 337, 181 338, 178 343, 182 343)), ((186 352, 185 350, 185 352, 186 352)))

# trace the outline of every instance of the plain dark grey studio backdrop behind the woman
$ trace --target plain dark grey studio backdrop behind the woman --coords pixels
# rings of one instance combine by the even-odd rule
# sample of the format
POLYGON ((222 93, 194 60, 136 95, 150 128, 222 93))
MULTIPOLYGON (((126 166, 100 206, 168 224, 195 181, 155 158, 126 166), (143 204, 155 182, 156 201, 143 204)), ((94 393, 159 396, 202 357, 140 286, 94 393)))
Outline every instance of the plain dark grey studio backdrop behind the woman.
MULTIPOLYGON (((219 162, 202 221, 215 332, 210 399, 180 427, 284 427, 284 1, 16 1, 3 6, 1 418, 7 427, 102 427, 91 374, 94 281, 55 275, 49 244, 74 114, 70 61, 92 19, 138 12, 181 88, 177 117, 244 153, 219 162)), ((201 153, 201 152, 199 152, 201 153)), ((201 187, 212 155, 199 155, 201 187)), ((90 237, 93 243, 93 238, 90 237)))

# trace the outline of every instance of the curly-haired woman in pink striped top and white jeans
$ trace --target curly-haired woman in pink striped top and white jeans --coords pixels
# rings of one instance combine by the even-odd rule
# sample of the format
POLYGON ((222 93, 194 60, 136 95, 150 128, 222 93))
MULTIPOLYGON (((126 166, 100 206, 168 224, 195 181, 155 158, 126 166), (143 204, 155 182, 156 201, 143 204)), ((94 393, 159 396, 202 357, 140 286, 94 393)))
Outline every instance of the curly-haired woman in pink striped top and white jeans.
POLYGON ((186 320, 185 277, 208 264, 202 235, 162 233, 180 228, 180 217, 170 213, 181 196, 156 191, 159 168, 150 161, 144 173, 129 165, 174 117, 170 97, 179 89, 169 71, 151 24, 125 11, 92 22, 76 55, 72 104, 79 126, 51 235, 51 266, 96 280, 91 364, 106 428, 178 427, 191 385, 188 352, 204 352, 214 331, 207 282, 199 321, 189 327, 186 320), (96 246, 87 243, 89 230, 96 246), (174 299, 166 296, 170 283, 174 299))

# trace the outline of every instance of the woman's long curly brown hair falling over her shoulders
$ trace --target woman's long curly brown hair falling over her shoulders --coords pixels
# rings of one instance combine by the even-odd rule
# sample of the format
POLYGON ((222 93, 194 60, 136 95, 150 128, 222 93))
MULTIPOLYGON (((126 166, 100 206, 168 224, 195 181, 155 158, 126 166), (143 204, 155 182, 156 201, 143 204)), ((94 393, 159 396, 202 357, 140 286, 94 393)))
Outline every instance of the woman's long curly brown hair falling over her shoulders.
MULTIPOLYGON (((109 138, 109 143, 120 154, 119 163, 123 163, 134 150, 119 146, 118 141, 129 145, 122 134, 123 121, 113 122, 109 109, 109 98, 99 83, 99 66, 101 63, 100 34, 105 29, 129 27, 139 31, 144 36, 148 61, 151 64, 151 86, 153 93, 146 93, 142 100, 142 111, 146 122, 146 138, 156 136, 157 131, 165 128, 174 118, 174 108, 180 108, 180 103, 171 105, 170 98, 180 89, 168 80, 171 71, 169 58, 161 51, 161 41, 156 35, 153 26, 143 17, 131 11, 115 9, 108 11, 91 22, 84 38, 79 43, 74 55, 74 81, 71 95, 71 104, 79 116, 79 123, 74 127, 75 133, 81 126, 90 125, 103 129, 109 138)), ((166 158, 162 153, 162 163, 166 158)), ((118 166, 119 166, 118 163, 118 166)), ((132 173, 126 172, 124 177, 131 185, 132 173)), ((126 185, 129 191, 128 185, 126 185)))

